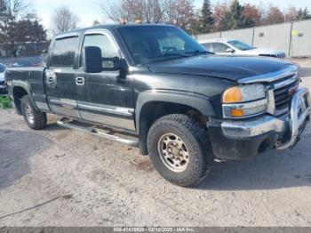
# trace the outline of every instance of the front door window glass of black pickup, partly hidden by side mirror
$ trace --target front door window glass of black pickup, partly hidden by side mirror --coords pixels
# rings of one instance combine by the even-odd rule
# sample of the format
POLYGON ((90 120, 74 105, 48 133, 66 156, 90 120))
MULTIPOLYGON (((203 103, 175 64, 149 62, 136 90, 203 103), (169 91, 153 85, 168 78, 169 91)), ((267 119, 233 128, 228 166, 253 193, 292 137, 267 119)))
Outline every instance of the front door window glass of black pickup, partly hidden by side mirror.
MULTIPOLYGON (((84 46, 81 52, 80 67, 84 67, 84 47, 88 46, 100 47, 103 58, 115 58, 119 56, 116 45, 109 40, 108 36, 87 35, 84 37, 84 46)), ((103 68, 113 68, 114 66, 112 61, 103 61, 102 65, 103 68)))

